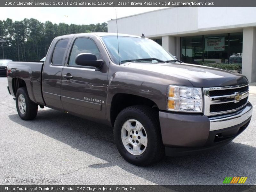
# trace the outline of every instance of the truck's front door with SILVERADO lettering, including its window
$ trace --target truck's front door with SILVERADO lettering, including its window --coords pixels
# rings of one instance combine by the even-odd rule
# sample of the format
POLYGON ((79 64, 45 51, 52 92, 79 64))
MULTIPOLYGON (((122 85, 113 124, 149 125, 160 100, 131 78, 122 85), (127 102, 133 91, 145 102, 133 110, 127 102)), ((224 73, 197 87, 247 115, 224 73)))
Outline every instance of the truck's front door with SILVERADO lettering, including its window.
POLYGON ((75 58, 79 53, 93 53, 97 59, 103 59, 92 38, 75 38, 68 63, 62 70, 61 101, 63 108, 79 116, 104 120, 106 118, 108 65, 105 60, 103 68, 99 71, 95 71, 93 67, 76 65, 75 58))

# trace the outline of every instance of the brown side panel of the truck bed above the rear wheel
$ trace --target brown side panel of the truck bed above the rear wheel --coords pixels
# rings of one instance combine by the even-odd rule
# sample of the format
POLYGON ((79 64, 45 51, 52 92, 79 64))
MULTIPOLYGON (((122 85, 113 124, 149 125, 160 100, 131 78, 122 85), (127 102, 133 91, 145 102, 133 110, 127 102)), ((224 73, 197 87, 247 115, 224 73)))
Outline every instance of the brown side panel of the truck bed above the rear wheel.
POLYGON ((25 83, 29 98, 44 105, 42 97, 42 61, 13 61, 8 63, 8 84, 13 97, 16 96, 16 85, 25 83))

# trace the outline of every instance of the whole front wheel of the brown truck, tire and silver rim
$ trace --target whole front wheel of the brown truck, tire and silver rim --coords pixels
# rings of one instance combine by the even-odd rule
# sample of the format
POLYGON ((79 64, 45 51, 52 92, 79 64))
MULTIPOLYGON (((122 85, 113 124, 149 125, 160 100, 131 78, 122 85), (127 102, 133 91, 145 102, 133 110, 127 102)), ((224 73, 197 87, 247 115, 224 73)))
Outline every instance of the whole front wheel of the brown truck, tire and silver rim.
POLYGON ((148 106, 123 109, 114 124, 114 139, 119 153, 129 163, 147 166, 164 156, 157 113, 148 106))

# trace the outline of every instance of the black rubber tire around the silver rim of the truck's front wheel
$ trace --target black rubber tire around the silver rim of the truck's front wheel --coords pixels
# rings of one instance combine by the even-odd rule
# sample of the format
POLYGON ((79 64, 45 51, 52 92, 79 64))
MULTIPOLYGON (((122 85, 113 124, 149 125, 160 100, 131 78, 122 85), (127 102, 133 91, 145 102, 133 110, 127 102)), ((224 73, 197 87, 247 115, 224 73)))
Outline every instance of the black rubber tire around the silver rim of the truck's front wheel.
MULTIPOLYGON (((128 133, 128 137, 129 134, 130 133, 128 133)), ((123 109, 116 117, 114 124, 114 139, 121 156, 131 164, 147 166, 161 160, 164 156, 164 145, 160 131, 158 113, 148 106, 136 105, 123 109), (140 155, 131 154, 128 149, 124 147, 122 141, 122 127, 124 123, 130 119, 139 121, 147 134, 147 147, 140 155)))

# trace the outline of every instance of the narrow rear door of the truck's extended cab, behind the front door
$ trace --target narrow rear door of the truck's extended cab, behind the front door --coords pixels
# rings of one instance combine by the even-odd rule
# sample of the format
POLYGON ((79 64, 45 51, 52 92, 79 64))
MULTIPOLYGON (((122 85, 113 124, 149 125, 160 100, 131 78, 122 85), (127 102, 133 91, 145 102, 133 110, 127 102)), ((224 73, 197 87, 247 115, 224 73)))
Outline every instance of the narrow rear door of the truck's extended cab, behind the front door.
POLYGON ((60 100, 61 72, 67 59, 68 45, 72 37, 55 39, 52 42, 42 74, 43 98, 47 107, 63 110, 60 100), (48 55, 49 54, 49 55, 48 55))

